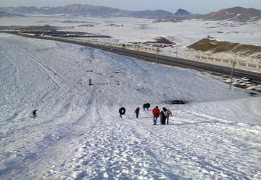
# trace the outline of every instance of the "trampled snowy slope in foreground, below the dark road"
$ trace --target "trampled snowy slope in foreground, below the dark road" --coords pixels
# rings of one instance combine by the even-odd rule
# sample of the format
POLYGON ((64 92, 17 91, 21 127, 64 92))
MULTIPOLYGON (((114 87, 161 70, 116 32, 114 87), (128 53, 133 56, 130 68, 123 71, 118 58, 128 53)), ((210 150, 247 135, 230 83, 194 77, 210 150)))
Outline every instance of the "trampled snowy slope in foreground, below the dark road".
POLYGON ((0 34, 0 84, 0 179, 261 179, 261 96, 219 77, 0 34))

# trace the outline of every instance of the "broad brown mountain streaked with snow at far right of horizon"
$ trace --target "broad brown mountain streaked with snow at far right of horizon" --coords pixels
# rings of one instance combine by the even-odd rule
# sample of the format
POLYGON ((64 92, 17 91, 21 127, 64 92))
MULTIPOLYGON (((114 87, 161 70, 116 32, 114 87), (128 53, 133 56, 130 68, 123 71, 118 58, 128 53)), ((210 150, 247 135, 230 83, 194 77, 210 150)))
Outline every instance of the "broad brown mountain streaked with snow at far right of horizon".
POLYGON ((258 21, 258 19, 261 19, 261 11, 253 8, 235 7, 218 10, 216 12, 210 12, 209 14, 199 16, 198 18, 210 21, 258 21))

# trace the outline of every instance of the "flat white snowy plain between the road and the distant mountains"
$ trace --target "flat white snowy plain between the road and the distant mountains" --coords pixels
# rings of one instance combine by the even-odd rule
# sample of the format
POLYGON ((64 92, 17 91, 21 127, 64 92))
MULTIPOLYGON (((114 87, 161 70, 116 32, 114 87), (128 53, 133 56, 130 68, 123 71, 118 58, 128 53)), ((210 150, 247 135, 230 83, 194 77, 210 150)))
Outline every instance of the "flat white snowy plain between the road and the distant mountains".
POLYGON ((171 37, 179 46, 207 38, 261 45, 261 21, 235 23, 231 21, 183 21, 157 23, 146 18, 98 18, 82 16, 29 16, 1 18, 1 25, 53 25, 68 27, 66 31, 83 31, 112 36, 122 43, 146 42, 157 36, 171 37), (89 25, 82 26, 82 25, 89 25))

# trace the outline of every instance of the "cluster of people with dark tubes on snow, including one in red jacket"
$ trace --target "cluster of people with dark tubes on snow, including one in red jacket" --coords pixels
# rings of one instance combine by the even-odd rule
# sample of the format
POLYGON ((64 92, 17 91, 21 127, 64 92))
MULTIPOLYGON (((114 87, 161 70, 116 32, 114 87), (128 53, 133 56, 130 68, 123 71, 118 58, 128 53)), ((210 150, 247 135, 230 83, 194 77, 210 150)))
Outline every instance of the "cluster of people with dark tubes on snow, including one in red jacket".
MULTIPOLYGON (((149 103, 145 103, 143 105, 143 109, 145 110, 145 108, 148 110, 148 108, 150 108, 150 104, 149 103)), ((120 118, 122 118, 122 115, 124 115, 126 112, 124 107, 121 107, 119 110, 120 113, 120 118)), ((139 107, 137 107, 134 111, 136 118, 139 118, 139 107)), ((165 125, 167 123, 169 123, 169 117, 172 116, 172 112, 170 112, 170 110, 168 110, 166 107, 162 108, 162 111, 159 110, 159 107, 156 106, 153 110, 152 110, 152 114, 153 114, 153 125, 157 125, 157 118, 159 118, 159 116, 161 116, 161 125, 165 125)))

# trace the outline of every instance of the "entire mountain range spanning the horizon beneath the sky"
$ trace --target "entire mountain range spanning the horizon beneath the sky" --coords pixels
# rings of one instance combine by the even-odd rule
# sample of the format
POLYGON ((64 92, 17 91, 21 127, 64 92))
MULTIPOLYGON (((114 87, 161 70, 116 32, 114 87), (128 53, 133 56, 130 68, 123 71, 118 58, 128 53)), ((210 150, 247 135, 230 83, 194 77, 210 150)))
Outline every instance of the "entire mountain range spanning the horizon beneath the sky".
MULTIPOLYGON (((257 21, 261 18, 261 11, 254 8, 242 8, 234 7, 216 12, 211 12, 205 15, 193 14, 183 9, 177 10, 172 13, 164 10, 144 10, 144 11, 128 11, 120 10, 117 8, 110 8, 98 5, 82 5, 73 4, 59 7, 41 7, 37 8, 34 6, 26 7, 2 7, 1 11, 11 14, 70 14, 70 15, 81 15, 81 16, 128 16, 138 18, 155 18, 164 21, 181 21, 188 18, 198 18, 203 20, 231 20, 231 21, 257 21)), ((4 15, 2 15, 4 16, 4 15)))

